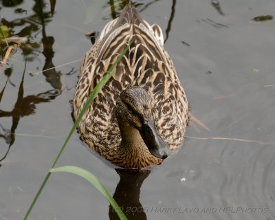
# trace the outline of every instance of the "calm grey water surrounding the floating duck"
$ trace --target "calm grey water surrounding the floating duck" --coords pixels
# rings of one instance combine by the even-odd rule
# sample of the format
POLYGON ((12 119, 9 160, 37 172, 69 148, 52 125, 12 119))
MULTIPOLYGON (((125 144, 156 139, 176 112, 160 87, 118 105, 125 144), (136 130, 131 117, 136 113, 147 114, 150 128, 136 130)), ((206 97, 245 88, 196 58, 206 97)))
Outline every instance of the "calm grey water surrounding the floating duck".
MULTIPOLYGON (((254 18, 274 15, 275 2, 138 3, 142 17, 168 36, 192 114, 210 131, 191 123, 175 157, 151 172, 120 175, 75 132, 58 166, 90 170, 136 219, 274 219, 275 23, 254 18)), ((0 219, 23 219, 72 127, 78 60, 91 46, 85 33, 112 16, 102 1, 57 1, 53 16, 45 1, 43 19, 39 1, 0 7, 1 23, 31 38, 0 69, 1 157, 10 146, 0 168, 0 219)), ((58 173, 30 219, 109 219, 112 212, 87 181, 58 173)))

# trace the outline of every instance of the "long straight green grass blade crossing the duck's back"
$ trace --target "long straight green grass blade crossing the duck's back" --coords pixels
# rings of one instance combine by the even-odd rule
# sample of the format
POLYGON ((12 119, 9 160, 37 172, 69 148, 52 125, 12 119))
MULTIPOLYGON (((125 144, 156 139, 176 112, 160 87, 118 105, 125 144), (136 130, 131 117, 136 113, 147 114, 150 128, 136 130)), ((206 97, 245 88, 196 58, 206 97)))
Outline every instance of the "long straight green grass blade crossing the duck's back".
MULTIPOLYGON (((122 57, 126 54, 126 52, 129 50, 129 47, 131 45, 133 41, 129 42, 129 45, 127 47, 124 48, 124 50, 122 51, 122 53, 118 56, 118 58, 115 60, 115 62, 111 65, 111 67, 108 69, 107 74, 105 74, 105 76, 102 78, 102 80, 100 80, 100 82, 98 83, 98 85, 96 85, 96 87, 94 88, 94 91, 91 93, 91 95, 89 96, 89 99, 87 100, 86 104, 83 107, 83 110, 79 113, 78 118, 76 118, 76 122, 74 122, 74 125, 72 126, 71 131, 69 131, 69 135, 67 136, 61 151, 59 151, 56 159, 54 160, 54 163, 52 164, 51 168, 54 168, 54 166, 56 166, 56 163, 58 162, 58 159, 61 157, 65 146, 67 145, 67 143, 69 142, 69 139, 72 137, 72 134, 74 133, 74 131, 76 130, 76 127, 78 126, 81 118, 83 117, 85 111, 87 111, 87 109, 89 109, 89 106, 91 104, 91 102, 93 102, 94 98, 96 98, 96 96, 98 95, 98 92, 102 89, 102 87, 104 87, 104 85, 108 82, 108 80, 111 78, 111 76, 113 75, 113 69, 115 68, 115 65, 118 64, 118 62, 120 62, 120 60, 122 59, 122 57)), ((39 198, 45 184, 47 183, 47 180, 49 179, 51 173, 47 173, 47 176, 45 177, 42 185, 40 186, 39 190, 36 192, 36 196, 34 197, 34 200, 32 201, 32 204, 30 205, 30 208, 28 209, 28 212, 25 214, 24 220, 28 219, 28 216, 30 215, 30 212, 32 211, 32 208, 34 207, 37 199, 39 198)))

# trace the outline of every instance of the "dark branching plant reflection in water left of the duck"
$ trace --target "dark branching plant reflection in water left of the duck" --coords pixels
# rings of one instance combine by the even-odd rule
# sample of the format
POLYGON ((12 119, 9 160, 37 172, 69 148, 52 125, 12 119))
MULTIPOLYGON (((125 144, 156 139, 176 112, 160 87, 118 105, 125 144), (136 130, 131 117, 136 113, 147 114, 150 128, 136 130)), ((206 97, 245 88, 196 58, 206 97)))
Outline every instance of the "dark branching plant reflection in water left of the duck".
MULTIPOLYGON (((3 1, 3 3, 9 3, 10 6, 18 5, 22 3, 22 1, 3 1)), ((8 144, 8 149, 5 153, 0 154, 0 162, 5 159, 10 151, 10 147, 14 144, 16 129, 19 124, 20 118, 23 116, 32 115, 35 113, 36 104, 43 102, 50 102, 56 98, 56 96, 61 94, 62 83, 61 83, 61 72, 56 72, 54 69, 54 64, 52 59, 54 58, 54 37, 47 36, 45 31, 45 24, 49 22, 51 13, 43 12, 44 3, 41 0, 36 0, 33 10, 36 14, 31 15, 30 17, 26 17, 25 19, 16 19, 14 21, 6 21, 2 19, 2 23, 9 28, 14 28, 16 26, 25 26, 28 24, 28 27, 25 27, 21 30, 21 32, 17 33, 17 36, 33 36, 36 31, 39 30, 39 21, 41 21, 42 25, 42 43, 43 43, 43 55, 45 56, 45 65, 43 67, 43 75, 45 76, 45 80, 52 85, 53 90, 45 91, 40 94, 30 95, 24 97, 24 77, 25 77, 25 69, 23 72, 23 76, 21 79, 21 84, 19 86, 17 102, 14 104, 14 108, 12 111, 3 111, 0 109, 0 118, 2 117, 12 117, 12 126, 11 129, 5 128, 2 124, 0 124, 0 137, 2 137, 5 142, 8 144), (47 21, 45 20, 47 19, 47 21), (34 22, 35 21, 35 22, 34 22), (46 70, 52 68, 50 70, 46 70)), ((36 53, 39 52, 39 43, 26 43, 21 45, 23 56, 25 57, 25 67, 27 61, 33 61, 36 58, 36 53), (30 56, 33 54, 34 56, 30 56)), ((10 76, 12 75, 12 68, 5 69, 5 75, 8 76, 8 80, 5 83, 3 89, 1 89, 0 93, 0 102, 3 98, 4 91, 8 81, 10 82, 10 76)), ((10 82, 11 85, 15 86, 10 82)), ((2 151, 3 148, 0 148, 2 151)))

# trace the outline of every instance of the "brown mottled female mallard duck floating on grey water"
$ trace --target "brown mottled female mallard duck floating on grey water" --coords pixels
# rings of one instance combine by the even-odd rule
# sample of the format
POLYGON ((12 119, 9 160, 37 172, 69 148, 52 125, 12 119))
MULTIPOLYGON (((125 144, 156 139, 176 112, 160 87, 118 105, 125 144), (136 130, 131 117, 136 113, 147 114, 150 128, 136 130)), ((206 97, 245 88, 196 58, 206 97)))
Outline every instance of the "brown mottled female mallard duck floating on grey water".
POLYGON ((133 5, 107 23, 80 67, 74 96, 77 118, 89 94, 129 42, 78 125, 81 138, 109 162, 123 168, 160 164, 177 151, 188 123, 188 102, 164 50, 162 30, 149 25, 133 5))

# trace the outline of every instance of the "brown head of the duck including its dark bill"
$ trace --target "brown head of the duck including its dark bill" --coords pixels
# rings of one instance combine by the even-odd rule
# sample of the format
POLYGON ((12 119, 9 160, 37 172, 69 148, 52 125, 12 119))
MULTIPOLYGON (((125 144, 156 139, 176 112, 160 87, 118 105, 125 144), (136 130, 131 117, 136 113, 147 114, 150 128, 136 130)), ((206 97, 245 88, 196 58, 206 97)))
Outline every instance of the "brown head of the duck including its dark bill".
POLYGON ((122 133, 126 131, 125 129, 137 129, 150 153, 155 157, 165 159, 168 157, 169 148, 155 129, 152 109, 151 94, 146 89, 131 87, 120 93, 115 115, 122 133))

